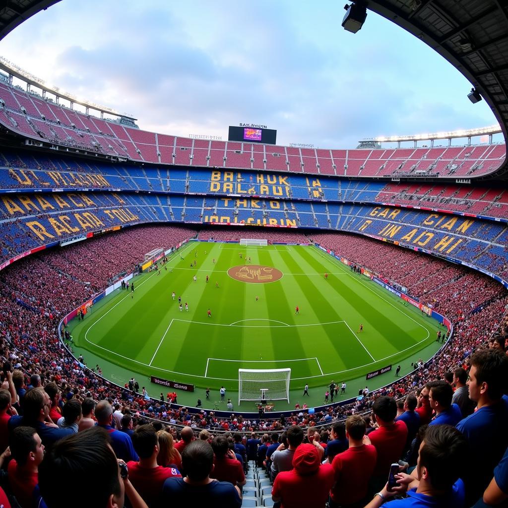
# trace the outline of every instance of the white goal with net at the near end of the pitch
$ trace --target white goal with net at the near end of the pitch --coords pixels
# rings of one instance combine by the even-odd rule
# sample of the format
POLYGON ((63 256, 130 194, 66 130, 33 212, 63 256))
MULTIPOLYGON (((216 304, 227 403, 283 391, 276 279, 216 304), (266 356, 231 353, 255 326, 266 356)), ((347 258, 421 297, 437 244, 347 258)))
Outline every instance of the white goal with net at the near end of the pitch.
POLYGON ((241 400, 287 400, 291 369, 238 369, 238 404, 241 400))

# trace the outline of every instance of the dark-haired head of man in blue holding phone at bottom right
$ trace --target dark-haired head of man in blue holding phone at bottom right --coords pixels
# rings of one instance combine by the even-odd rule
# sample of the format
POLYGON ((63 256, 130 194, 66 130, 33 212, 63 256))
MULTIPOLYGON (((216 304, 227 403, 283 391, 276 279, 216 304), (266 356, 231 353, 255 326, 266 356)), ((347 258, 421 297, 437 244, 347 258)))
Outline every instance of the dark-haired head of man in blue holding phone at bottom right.
POLYGON ((420 444, 417 471, 436 490, 447 491, 467 463, 465 437, 451 425, 429 425, 420 444))

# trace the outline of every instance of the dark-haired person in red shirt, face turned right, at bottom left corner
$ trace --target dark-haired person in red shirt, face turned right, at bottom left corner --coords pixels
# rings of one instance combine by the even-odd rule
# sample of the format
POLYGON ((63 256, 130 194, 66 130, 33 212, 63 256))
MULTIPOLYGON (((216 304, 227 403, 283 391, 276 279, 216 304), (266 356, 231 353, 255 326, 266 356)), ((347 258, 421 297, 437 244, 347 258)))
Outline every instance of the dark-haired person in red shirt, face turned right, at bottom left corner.
POLYGON ((44 457, 44 444, 33 427, 16 427, 9 436, 9 446, 11 490, 22 508, 35 508, 34 489, 39 483, 38 469, 44 457))

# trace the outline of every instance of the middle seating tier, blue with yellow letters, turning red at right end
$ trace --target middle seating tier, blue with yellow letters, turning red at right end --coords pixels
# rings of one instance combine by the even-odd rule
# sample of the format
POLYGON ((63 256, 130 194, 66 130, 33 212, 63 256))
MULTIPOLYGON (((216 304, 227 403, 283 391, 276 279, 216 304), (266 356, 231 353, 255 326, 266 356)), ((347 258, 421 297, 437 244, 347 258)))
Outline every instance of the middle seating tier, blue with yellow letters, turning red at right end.
POLYGON ((164 166, 133 167, 40 153, 0 152, 1 189, 128 190, 210 196, 259 196, 318 202, 426 207, 485 217, 508 217, 504 187, 389 183, 330 176, 164 166))

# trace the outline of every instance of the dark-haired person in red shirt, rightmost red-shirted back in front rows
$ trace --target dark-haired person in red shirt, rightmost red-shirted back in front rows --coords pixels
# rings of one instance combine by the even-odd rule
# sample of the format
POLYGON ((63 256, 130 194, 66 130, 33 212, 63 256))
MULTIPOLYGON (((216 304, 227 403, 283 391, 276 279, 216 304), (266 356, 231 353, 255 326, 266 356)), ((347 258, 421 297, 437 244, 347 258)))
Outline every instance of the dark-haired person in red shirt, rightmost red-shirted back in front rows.
POLYGON ((365 436, 366 444, 373 444, 377 452, 376 467, 371 480, 371 489, 377 492, 383 487, 390 472, 390 465, 398 462, 407 439, 404 422, 395 421, 397 403, 393 397, 379 397, 372 406, 374 419, 379 428, 365 436))

